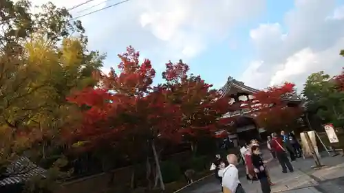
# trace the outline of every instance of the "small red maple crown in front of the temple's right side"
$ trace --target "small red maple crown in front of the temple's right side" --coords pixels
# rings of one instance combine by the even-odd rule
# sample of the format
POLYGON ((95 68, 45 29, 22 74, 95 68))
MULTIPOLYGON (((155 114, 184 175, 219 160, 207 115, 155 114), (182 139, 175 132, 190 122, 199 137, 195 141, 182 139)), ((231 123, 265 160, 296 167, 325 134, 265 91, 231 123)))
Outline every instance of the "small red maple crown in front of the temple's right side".
POLYGON ((259 103, 251 105, 251 108, 256 112, 259 126, 268 130, 288 130, 294 126, 302 114, 301 106, 288 106, 286 100, 283 100, 294 94, 294 84, 289 82, 256 93, 255 100, 259 103))

